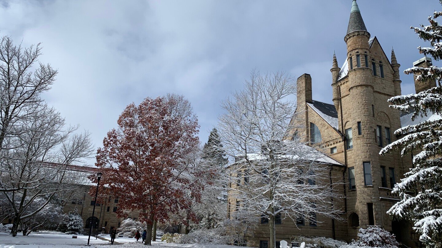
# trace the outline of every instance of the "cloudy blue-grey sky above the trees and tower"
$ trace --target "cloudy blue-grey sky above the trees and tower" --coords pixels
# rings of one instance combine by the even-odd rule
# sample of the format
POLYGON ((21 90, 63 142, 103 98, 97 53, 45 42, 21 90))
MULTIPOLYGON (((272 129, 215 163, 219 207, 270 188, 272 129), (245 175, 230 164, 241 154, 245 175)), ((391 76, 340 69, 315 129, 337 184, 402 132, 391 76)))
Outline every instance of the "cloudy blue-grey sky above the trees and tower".
MULTIPOLYGON (((95 147, 131 102, 168 92, 185 95, 198 115, 200 139, 221 113, 220 101, 253 68, 312 75, 313 99, 332 103, 333 51, 339 66, 351 0, 0 0, 0 35, 42 42, 40 60, 59 74, 46 101, 92 132, 95 147)), ((437 0, 359 0, 368 31, 401 71, 425 45, 410 26, 427 24, 437 0)), ((402 93, 413 93, 401 74, 402 93)), ((93 164, 95 160, 90 160, 93 164)))

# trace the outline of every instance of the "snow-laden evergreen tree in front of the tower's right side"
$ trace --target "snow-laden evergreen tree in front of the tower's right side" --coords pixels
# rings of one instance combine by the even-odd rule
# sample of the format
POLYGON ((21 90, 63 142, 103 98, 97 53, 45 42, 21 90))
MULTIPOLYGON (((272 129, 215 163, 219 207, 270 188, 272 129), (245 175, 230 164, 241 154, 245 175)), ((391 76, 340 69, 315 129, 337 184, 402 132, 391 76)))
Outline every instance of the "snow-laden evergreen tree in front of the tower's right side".
MULTIPOLYGON (((442 0, 439 1, 442 4, 442 0)), ((420 25, 415 33, 424 41, 430 41, 430 48, 419 47, 419 53, 429 55, 438 61, 442 59, 442 26, 436 19, 442 11, 428 17, 429 26, 420 25)), ((396 96, 389 99, 392 107, 412 113, 411 119, 433 114, 438 118, 426 118, 419 124, 408 125, 396 130, 401 136, 396 142, 381 150, 381 154, 391 150, 401 150, 402 156, 413 155, 413 168, 405 173, 405 178, 396 184, 393 193, 399 193, 389 214, 414 223, 420 240, 427 247, 442 247, 442 69, 413 67, 404 71, 414 74, 416 80, 425 82, 436 80, 437 86, 417 94, 396 96), (415 192, 415 194, 410 194, 415 192)))

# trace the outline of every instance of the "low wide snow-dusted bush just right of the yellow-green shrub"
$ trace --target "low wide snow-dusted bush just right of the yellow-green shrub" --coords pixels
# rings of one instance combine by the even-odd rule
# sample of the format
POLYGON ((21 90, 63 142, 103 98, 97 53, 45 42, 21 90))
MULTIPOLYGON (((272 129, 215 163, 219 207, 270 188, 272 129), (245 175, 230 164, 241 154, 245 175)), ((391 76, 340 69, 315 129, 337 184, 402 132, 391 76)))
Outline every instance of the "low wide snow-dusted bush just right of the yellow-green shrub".
POLYGON ((177 244, 227 244, 230 237, 223 235, 222 228, 192 230, 183 234, 174 243, 177 244))

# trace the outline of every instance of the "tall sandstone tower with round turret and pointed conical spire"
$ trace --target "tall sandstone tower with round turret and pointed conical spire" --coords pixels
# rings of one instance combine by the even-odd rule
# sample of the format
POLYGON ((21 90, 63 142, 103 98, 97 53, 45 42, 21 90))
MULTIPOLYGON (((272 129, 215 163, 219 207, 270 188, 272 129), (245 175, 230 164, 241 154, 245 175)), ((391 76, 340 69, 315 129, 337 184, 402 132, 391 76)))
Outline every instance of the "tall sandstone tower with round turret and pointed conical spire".
MULTIPOLYGON (((404 166, 398 153, 381 157, 379 152, 396 140, 392 133, 400 128, 399 112, 387 102, 401 93, 400 64, 394 51, 390 63, 377 38, 370 39, 356 0, 344 41, 347 60, 340 69, 334 56, 331 68, 344 156, 342 160, 338 155, 332 158, 346 165, 344 175, 350 185, 345 208, 351 227, 381 225, 391 230, 392 220, 386 211, 394 204, 391 188, 404 166)), ((357 230, 349 227, 348 234, 355 233, 357 230)))

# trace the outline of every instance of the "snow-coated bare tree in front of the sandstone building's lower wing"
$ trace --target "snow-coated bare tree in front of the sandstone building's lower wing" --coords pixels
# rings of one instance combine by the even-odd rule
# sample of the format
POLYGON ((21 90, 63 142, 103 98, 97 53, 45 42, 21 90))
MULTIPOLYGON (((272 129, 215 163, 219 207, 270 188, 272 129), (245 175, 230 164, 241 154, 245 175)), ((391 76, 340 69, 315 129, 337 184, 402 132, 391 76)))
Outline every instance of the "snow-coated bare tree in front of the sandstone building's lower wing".
POLYGON ((225 153, 235 162, 225 173, 236 199, 235 210, 247 210, 270 224, 270 248, 275 246, 275 221, 316 214, 339 218, 333 207, 339 197, 331 185, 332 161, 300 141, 286 140, 297 127, 290 122, 296 105, 290 98, 296 85, 285 73, 253 71, 244 90, 222 102, 225 113, 217 129, 225 153))

